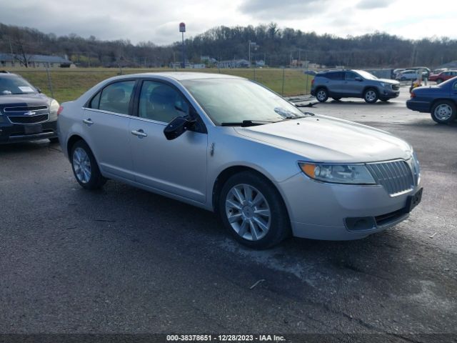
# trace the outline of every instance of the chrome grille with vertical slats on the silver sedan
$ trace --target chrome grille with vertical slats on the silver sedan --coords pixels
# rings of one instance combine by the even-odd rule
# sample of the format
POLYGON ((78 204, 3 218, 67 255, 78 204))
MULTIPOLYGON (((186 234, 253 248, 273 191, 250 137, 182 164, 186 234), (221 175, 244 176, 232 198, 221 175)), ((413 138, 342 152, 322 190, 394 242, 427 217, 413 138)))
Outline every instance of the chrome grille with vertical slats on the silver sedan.
POLYGON ((366 164, 368 171, 391 197, 411 191, 417 180, 413 177, 411 164, 407 161, 388 161, 366 164))

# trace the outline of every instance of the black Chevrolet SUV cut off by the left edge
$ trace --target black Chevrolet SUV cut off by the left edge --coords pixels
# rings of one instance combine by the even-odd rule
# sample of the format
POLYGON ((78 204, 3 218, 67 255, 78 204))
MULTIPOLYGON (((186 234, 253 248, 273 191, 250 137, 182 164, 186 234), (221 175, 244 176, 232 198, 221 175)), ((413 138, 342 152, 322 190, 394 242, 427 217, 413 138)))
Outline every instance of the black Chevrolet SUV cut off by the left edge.
POLYGON ((59 103, 16 74, 0 71, 0 144, 57 140, 59 103))

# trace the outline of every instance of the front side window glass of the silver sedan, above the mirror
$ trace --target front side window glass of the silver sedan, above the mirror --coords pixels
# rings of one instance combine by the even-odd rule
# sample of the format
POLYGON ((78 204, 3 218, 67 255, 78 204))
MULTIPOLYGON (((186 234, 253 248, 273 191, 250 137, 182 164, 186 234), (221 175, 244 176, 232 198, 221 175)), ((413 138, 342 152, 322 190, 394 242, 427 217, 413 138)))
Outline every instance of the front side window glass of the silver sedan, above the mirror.
POLYGON ((176 116, 189 116, 191 107, 172 86, 144 81, 139 99, 139 117, 169 123, 176 116))

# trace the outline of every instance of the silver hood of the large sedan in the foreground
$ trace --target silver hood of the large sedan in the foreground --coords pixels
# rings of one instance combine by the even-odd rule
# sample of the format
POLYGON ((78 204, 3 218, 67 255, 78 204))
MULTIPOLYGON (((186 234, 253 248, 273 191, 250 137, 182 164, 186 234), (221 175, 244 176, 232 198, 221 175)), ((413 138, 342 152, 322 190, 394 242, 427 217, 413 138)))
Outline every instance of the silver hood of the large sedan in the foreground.
POLYGON ((386 131, 329 116, 310 116, 251 127, 241 136, 320 162, 361 163, 411 158, 411 146, 386 131))

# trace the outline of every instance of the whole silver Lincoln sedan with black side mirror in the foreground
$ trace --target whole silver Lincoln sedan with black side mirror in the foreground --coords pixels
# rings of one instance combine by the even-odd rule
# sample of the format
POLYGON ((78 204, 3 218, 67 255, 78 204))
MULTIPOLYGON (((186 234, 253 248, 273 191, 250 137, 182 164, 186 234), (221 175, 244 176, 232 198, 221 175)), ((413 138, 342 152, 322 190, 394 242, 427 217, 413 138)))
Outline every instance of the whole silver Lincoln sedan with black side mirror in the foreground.
POLYGON ((214 211, 248 247, 360 239, 421 201, 406 141, 302 112, 247 79, 116 76, 62 107, 59 139, 81 187, 115 179, 214 211))

